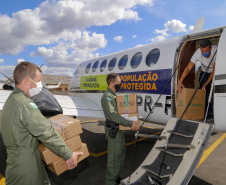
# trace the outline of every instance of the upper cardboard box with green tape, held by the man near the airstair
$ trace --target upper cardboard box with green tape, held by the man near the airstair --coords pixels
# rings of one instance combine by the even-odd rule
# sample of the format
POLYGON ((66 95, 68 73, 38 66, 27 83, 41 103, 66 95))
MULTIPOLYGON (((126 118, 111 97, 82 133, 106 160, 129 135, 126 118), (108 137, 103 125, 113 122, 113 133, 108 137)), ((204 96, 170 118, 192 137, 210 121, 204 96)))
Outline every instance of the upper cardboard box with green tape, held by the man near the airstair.
POLYGON ((120 94, 116 96, 119 114, 132 114, 138 112, 136 94, 120 94))

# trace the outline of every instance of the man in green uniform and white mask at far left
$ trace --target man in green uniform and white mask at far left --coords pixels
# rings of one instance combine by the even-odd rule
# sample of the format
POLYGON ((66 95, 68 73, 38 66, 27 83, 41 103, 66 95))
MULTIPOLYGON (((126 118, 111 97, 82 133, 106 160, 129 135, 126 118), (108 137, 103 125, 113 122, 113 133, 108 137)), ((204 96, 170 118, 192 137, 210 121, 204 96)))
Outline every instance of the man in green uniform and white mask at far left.
POLYGON ((29 98, 41 83, 41 70, 30 62, 21 62, 14 70, 16 88, 2 110, 2 137, 7 151, 7 185, 49 185, 49 179, 38 150, 38 140, 66 160, 68 169, 77 166, 77 156, 48 119, 42 116, 29 98))

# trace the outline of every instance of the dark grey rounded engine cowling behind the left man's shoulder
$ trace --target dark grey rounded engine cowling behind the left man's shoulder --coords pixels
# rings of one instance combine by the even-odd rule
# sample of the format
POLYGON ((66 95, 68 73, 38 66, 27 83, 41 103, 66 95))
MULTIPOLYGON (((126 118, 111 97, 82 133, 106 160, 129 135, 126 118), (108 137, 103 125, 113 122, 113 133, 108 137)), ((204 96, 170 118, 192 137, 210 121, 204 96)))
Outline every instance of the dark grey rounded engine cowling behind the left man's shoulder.
POLYGON ((43 116, 63 114, 63 109, 56 98, 45 88, 42 88, 41 92, 32 96, 31 99, 38 106, 43 116))

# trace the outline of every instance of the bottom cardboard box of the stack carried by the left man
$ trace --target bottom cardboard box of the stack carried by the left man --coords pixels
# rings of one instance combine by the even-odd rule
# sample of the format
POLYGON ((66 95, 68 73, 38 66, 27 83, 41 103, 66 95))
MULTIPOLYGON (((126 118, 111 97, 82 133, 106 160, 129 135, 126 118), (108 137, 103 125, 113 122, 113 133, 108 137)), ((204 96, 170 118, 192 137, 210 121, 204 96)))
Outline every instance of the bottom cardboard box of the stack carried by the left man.
MULTIPOLYGON (((82 143, 82 147, 75 152, 83 152, 83 155, 78 158, 78 163, 89 156, 89 151, 85 143, 82 143)), ((67 163, 62 158, 50 164, 48 168, 57 175, 68 170, 67 163)))

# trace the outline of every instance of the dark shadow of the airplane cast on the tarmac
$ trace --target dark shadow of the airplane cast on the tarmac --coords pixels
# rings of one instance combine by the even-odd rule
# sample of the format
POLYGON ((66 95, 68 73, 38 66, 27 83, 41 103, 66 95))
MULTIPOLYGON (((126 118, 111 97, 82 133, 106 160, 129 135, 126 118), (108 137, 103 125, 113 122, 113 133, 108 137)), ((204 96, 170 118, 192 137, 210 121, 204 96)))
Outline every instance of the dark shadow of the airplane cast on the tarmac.
MULTIPOLYGON (((101 123, 99 123, 101 124, 101 123)), ((150 130, 144 128, 142 133, 156 133, 160 130, 150 130)), ((134 132, 125 132, 126 143, 134 140, 134 132)), ((81 134, 82 142, 87 143, 90 152, 98 154, 100 152, 106 151, 107 146, 105 142, 104 133, 93 133, 86 129, 83 129, 81 134)), ((134 168, 131 170, 131 163, 133 158, 134 145, 129 145, 126 147, 126 161, 124 166, 124 171, 121 174, 122 179, 128 177, 131 171, 134 172, 143 160, 146 158, 148 153, 153 148, 156 139, 145 139, 137 143, 136 155, 134 160, 134 168)), ((46 171, 49 175, 52 185, 105 185, 105 175, 106 175, 106 162, 107 155, 100 155, 99 157, 89 156, 78 164, 78 167, 73 170, 68 170, 63 174, 57 176, 49 169, 46 171)), ((0 173, 5 176, 6 169, 6 149, 3 145, 2 136, 0 133, 0 173)), ((195 176, 192 177, 189 185, 211 185, 195 176)))

